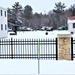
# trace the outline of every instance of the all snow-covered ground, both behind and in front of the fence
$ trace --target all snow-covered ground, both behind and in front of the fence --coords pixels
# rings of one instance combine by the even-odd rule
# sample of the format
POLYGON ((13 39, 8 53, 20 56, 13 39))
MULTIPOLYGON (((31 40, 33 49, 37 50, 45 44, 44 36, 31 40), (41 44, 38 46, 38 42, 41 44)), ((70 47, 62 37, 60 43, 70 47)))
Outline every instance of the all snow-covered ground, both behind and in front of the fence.
MULTIPOLYGON (((22 39, 47 39, 56 38, 57 34, 70 34, 69 31, 51 31, 48 35, 46 31, 26 31, 17 32, 16 35, 9 35, 9 38, 22 39)), ((72 35, 75 37, 75 35, 72 35)), ((38 60, 37 59, 0 59, 0 74, 15 75, 15 74, 38 74, 38 60)), ((73 61, 56 61, 56 60, 40 60, 40 74, 75 74, 75 60, 73 61)))

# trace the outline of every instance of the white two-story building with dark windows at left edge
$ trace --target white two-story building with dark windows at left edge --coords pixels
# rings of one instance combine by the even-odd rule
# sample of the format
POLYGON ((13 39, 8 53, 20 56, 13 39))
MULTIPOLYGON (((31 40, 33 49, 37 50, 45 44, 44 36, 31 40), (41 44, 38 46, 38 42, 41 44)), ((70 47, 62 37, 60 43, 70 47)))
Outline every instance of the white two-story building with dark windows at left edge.
POLYGON ((0 7, 0 38, 7 37, 7 9, 0 7))

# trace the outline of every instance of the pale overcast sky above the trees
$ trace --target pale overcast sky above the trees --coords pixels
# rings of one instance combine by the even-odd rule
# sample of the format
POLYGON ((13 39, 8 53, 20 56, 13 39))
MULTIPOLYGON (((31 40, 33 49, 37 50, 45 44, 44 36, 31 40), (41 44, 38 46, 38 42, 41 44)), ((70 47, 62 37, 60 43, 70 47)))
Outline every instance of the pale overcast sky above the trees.
POLYGON ((15 2, 20 2, 23 7, 30 5, 33 12, 38 13, 48 13, 54 8, 55 3, 57 2, 65 3, 67 7, 75 4, 75 0, 0 0, 0 6, 4 8, 11 8, 15 2))

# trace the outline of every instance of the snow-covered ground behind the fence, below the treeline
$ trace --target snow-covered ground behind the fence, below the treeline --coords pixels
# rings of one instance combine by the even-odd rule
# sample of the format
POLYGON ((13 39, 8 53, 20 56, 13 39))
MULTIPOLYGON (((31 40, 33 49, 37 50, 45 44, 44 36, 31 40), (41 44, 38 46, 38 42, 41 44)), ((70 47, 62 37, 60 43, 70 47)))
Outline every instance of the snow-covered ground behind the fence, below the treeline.
MULTIPOLYGON (((11 33, 11 32, 10 32, 11 33)), ((70 34, 69 31, 25 31, 17 32, 17 35, 10 35, 8 33, 8 38, 22 38, 22 39, 47 39, 47 38, 56 38, 57 34, 70 34), (46 35, 48 33, 48 35, 46 35)), ((72 35, 73 37, 75 35, 72 35)))

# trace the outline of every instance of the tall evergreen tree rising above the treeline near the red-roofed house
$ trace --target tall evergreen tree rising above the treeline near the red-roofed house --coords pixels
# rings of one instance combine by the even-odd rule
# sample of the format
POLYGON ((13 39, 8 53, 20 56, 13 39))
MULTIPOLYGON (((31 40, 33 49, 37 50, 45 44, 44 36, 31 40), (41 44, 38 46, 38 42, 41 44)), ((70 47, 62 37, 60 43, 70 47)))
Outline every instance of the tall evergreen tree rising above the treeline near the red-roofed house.
POLYGON ((55 3, 55 9, 53 9, 53 12, 56 14, 56 28, 62 26, 60 19, 61 16, 64 14, 65 7, 66 6, 64 3, 61 2, 55 3))

